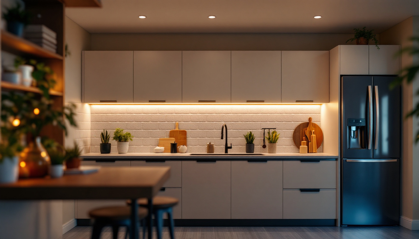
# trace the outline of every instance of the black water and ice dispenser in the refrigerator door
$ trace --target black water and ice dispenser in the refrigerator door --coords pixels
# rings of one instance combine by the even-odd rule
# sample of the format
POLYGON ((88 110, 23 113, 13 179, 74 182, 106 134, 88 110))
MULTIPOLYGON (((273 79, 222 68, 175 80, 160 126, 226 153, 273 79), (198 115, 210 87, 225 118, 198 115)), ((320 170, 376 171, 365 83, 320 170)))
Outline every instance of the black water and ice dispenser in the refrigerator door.
POLYGON ((348 149, 366 149, 365 118, 348 118, 348 149))

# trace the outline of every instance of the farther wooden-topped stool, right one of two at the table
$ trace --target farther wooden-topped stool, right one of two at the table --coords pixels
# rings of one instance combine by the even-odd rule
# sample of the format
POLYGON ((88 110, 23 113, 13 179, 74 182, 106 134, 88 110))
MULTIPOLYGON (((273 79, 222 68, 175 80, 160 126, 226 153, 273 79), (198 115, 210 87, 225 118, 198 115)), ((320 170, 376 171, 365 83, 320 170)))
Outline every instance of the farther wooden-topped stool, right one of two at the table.
MULTIPOLYGON (((173 223, 173 206, 179 203, 177 198, 156 196, 153 198, 153 215, 156 220, 157 227, 157 239, 162 238, 163 230, 163 213, 167 213, 169 219, 169 232, 171 239, 174 239, 174 223, 173 223)), ((131 204, 131 200, 127 200, 127 204, 131 204)), ((147 198, 138 199, 138 205, 140 208, 148 207, 147 198)), ((145 230, 143 231, 145 233, 145 230)))

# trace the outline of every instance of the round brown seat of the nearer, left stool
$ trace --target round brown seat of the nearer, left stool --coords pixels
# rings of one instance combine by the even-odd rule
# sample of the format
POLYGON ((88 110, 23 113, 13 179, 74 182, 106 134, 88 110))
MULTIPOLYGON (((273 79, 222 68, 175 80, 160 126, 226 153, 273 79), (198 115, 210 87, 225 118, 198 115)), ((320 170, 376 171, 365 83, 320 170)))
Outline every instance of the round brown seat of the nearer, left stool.
MULTIPOLYGON (((138 217, 143 219, 147 216, 147 208, 138 208, 138 217)), ((129 219, 131 215, 131 208, 129 206, 111 206, 96 208, 89 212, 91 218, 103 218, 111 221, 119 221, 129 219)))

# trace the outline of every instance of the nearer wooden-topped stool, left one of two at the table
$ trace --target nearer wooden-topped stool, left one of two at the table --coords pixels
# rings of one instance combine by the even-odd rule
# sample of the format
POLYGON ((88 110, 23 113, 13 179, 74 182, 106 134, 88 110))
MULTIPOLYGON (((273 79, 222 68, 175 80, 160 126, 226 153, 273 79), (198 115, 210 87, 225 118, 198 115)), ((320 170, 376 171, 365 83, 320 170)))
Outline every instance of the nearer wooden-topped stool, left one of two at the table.
MULTIPOLYGON (((144 219, 148 214, 146 208, 138 209, 138 218, 144 219)), ((118 238, 118 231, 120 226, 127 227, 127 232, 130 229, 130 215, 131 208, 128 206, 112 206, 96 208, 89 212, 89 216, 94 218, 92 239, 99 239, 103 227, 112 226, 113 238, 118 238)), ((125 235, 127 238, 127 234, 125 235)))

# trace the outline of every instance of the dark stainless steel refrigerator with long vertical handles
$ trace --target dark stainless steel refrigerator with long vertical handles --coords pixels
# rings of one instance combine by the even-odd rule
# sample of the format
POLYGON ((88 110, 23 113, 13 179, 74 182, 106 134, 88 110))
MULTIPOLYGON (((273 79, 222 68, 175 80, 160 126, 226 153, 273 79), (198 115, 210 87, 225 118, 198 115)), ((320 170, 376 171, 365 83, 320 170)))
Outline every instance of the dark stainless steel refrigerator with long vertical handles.
POLYGON ((398 225, 400 87, 395 77, 341 77, 341 224, 398 225))

